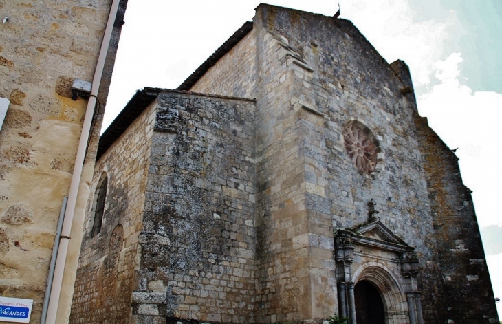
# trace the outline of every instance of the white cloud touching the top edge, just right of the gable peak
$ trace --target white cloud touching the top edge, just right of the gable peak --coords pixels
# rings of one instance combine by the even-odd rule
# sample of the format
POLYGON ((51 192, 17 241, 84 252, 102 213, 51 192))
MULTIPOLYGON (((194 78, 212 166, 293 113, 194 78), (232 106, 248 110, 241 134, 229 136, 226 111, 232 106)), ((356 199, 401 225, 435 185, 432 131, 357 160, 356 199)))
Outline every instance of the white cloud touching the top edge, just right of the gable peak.
POLYGON ((457 23, 455 11, 444 21, 417 21, 406 0, 349 1, 342 8, 342 17, 353 21, 389 63, 406 61, 415 91, 430 85, 435 62, 444 57, 449 29, 457 23))

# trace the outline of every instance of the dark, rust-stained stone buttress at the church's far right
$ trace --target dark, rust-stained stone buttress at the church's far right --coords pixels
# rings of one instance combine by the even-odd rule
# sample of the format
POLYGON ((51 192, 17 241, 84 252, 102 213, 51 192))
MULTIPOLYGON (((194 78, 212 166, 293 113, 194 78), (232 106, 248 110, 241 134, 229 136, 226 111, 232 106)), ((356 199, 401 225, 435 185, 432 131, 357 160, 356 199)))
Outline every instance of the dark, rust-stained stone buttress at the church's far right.
POLYGON ((415 118, 444 289, 437 311, 448 323, 498 323, 471 191, 462 182, 458 158, 426 118, 415 118))

